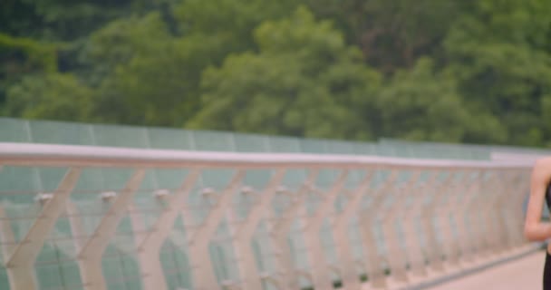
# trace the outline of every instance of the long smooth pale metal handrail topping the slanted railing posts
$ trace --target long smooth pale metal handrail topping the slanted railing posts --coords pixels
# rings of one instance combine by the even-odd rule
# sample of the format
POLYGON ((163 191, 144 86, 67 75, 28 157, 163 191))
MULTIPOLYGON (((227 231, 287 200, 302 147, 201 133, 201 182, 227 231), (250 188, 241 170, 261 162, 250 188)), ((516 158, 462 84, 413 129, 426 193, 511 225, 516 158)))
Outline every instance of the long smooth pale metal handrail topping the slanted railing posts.
POLYGON ((365 155, 237 153, 0 142, 0 165, 144 169, 527 169, 534 160, 427 160, 365 155))

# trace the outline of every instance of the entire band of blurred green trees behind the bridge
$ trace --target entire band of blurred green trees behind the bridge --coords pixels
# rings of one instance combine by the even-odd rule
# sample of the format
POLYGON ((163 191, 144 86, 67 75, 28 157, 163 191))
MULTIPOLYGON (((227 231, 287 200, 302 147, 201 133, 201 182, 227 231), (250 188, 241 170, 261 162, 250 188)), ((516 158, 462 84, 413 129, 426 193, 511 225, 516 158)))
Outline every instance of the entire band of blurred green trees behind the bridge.
POLYGON ((0 114, 551 145, 548 0, 5 0, 0 114))

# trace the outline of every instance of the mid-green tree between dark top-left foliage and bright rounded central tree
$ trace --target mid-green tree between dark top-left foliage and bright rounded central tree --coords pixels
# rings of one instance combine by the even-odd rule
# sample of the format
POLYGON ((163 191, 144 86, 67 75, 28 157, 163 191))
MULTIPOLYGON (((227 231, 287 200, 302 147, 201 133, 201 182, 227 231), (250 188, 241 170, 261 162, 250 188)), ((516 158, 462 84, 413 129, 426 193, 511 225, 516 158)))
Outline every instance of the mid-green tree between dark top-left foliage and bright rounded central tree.
POLYGON ((182 126, 200 110, 203 70, 229 53, 254 50, 256 24, 287 13, 285 1, 247 2, 189 0, 174 8, 176 27, 153 12, 92 34, 88 63, 99 63, 91 80, 102 120, 182 126))

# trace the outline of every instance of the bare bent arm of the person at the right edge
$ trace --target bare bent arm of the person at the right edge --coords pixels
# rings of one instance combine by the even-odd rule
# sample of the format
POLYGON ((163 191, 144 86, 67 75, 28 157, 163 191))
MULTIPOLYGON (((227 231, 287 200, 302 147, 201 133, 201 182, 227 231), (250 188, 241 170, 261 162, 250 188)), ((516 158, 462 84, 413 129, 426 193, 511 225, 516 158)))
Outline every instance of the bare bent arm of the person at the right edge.
POLYGON ((530 241, 544 241, 551 237, 551 223, 541 221, 550 177, 551 159, 537 160, 530 179, 530 198, 524 226, 524 235, 530 241))

